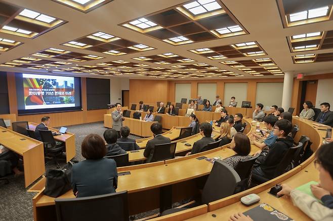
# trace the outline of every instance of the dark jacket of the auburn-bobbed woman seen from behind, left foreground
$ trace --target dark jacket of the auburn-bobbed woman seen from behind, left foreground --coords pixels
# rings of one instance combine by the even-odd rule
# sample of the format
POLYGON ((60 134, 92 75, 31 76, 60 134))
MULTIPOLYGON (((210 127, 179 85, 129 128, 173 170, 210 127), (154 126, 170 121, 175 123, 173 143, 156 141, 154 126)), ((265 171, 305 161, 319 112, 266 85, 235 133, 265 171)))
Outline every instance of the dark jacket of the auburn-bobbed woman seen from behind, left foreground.
POLYGON ((118 184, 116 163, 113 159, 86 159, 75 163, 71 170, 73 193, 77 197, 115 193, 118 184))

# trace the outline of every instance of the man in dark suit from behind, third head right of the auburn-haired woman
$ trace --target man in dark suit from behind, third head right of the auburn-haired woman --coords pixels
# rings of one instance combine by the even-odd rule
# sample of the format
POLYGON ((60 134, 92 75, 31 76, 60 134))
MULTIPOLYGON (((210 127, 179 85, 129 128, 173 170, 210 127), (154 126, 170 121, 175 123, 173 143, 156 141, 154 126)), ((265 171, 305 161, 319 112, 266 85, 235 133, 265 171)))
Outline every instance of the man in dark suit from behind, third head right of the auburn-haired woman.
POLYGON ((153 123, 150 126, 150 130, 153 133, 154 138, 148 140, 145 151, 143 155, 147 158, 146 162, 155 162, 156 160, 153 158, 154 154, 154 147, 156 144, 164 144, 170 143, 171 140, 169 137, 162 136, 162 125, 158 122, 153 123))

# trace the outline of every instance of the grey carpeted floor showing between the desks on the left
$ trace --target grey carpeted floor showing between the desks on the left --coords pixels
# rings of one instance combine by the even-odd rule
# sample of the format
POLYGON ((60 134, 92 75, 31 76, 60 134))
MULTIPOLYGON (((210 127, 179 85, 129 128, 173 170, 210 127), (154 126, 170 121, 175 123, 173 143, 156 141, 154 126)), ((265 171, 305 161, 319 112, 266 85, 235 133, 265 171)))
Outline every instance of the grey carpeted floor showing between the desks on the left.
MULTIPOLYGON (((67 131, 75 134, 76 156, 75 160, 84 159, 81 155, 81 142, 91 133, 99 134, 103 137, 103 133, 106 130, 103 122, 81 124, 68 126, 67 131)), ((130 135, 130 138, 139 139, 134 135, 130 135)), ((59 161, 61 167, 65 165, 65 160, 59 161)), ((48 163, 46 169, 56 169, 54 163, 48 163)), ((13 175, 7 176, 10 183, 5 185, 0 181, 0 221, 21 221, 21 220, 33 220, 32 214, 32 197, 35 193, 26 192, 24 188, 24 177, 14 178, 13 175)), ((140 215, 140 217, 143 215, 140 215)))

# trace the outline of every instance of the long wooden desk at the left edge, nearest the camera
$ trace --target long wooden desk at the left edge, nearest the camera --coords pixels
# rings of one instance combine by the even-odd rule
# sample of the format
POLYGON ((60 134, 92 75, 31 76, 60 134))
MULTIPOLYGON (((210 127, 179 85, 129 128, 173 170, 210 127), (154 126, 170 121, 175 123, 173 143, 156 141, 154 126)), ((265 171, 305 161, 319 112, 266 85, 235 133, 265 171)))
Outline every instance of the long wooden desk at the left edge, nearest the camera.
POLYGON ((23 156, 25 187, 45 173, 42 142, 0 127, 0 144, 23 156))

